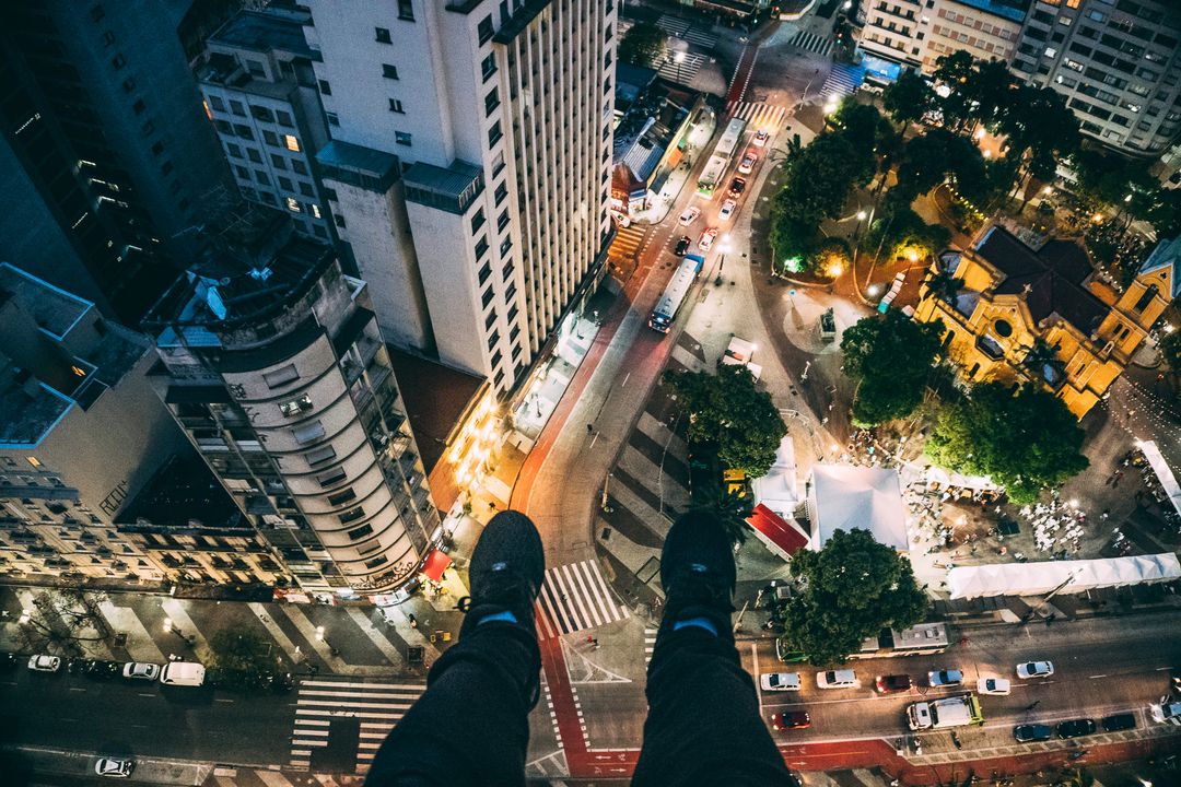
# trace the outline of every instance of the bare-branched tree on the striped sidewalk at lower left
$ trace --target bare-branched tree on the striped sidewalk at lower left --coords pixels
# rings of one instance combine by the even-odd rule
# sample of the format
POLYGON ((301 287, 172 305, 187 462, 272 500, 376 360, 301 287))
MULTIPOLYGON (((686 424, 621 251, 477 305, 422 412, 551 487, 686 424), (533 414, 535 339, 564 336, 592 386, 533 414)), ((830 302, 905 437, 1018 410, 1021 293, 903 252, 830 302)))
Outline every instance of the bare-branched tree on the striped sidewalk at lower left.
POLYGON ((33 597, 17 629, 17 641, 26 652, 77 657, 113 638, 102 604, 106 593, 80 588, 54 588, 33 597))

